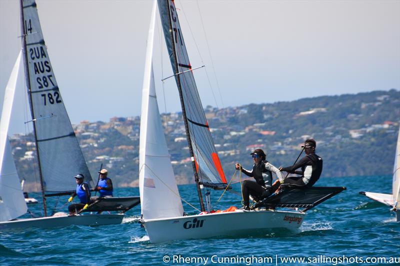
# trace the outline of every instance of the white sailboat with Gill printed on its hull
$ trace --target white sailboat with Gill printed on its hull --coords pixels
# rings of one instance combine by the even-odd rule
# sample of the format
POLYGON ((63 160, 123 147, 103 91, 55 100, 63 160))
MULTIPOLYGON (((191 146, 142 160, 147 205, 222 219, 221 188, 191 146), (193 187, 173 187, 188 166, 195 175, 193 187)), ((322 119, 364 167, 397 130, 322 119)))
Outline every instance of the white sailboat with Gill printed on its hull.
POLYGON ((273 228, 297 229, 303 222, 306 210, 345 188, 293 189, 271 197, 270 201, 263 202, 263 206, 260 206, 263 208, 259 210, 211 213, 208 189, 228 189, 228 185, 197 92, 174 2, 173 0, 157 2, 173 76, 179 92, 201 213, 198 215, 183 213, 161 126, 151 63, 156 12, 154 2, 147 39, 139 144, 140 222, 147 232, 149 241, 161 243, 216 236, 248 236, 255 232, 259 235, 273 228), (293 194, 295 197, 290 196, 293 194), (271 209, 279 207, 298 207, 303 210, 271 209))

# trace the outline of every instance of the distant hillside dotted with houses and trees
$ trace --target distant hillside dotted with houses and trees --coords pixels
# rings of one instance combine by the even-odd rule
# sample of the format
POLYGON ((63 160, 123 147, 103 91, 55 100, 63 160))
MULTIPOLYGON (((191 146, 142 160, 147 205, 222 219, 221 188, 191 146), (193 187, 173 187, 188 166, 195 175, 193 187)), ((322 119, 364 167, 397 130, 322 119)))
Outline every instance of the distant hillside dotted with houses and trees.
MULTIPOLYGON (((275 166, 288 166, 304 139, 317 141, 324 177, 391 174, 400 122, 400 92, 372 91, 304 98, 292 102, 205 108, 208 125, 226 178, 234 163, 251 167, 249 153, 267 152, 275 166)), ((192 183, 184 126, 180 113, 161 115, 178 183, 192 183)), ((89 169, 96 178, 101 163, 116 186, 137 186, 139 117, 74 125, 89 169)), ((37 180, 32 136, 11 142, 20 177, 37 180)))

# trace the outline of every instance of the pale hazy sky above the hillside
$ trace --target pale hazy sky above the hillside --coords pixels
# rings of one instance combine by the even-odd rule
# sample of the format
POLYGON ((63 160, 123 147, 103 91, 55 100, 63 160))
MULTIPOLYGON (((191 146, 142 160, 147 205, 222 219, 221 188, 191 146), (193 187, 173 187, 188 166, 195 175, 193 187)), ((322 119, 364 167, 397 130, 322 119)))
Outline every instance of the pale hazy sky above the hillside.
MULTIPOLYGON (((140 115, 151 0, 37 0, 72 123, 140 115)), ((175 0, 203 106, 400 89, 400 1, 175 0)), ((0 107, 20 49, 19 2, 0 0, 0 107)), ((180 110, 156 18, 160 112, 180 110)), ((9 134, 26 133, 23 69, 9 134)), ((0 109, 1 110, 1 109, 0 109)))

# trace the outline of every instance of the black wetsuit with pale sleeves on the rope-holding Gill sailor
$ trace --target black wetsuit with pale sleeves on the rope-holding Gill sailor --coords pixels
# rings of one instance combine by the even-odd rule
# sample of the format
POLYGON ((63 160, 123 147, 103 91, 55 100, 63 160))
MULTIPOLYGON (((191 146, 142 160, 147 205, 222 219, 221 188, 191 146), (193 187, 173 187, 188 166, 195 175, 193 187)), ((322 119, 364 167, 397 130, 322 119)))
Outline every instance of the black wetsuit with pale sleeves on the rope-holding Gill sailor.
POLYGON ((255 179, 255 182, 250 180, 245 180, 243 182, 242 196, 245 206, 249 206, 249 195, 253 198, 260 199, 262 193, 267 190, 272 194, 272 172, 276 174, 279 180, 283 180, 280 171, 268 161, 260 161, 258 164, 254 164, 251 171, 241 168, 241 172, 255 179))

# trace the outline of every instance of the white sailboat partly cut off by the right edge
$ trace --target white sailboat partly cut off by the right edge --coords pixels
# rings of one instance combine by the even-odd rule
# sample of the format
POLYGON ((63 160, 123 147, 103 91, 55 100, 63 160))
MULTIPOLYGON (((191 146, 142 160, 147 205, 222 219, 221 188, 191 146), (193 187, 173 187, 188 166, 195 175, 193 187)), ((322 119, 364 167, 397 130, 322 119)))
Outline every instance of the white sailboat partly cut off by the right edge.
POLYGON ((359 192, 361 195, 380 202, 384 205, 390 206, 391 211, 396 216, 396 222, 400 222, 400 128, 398 130, 396 154, 394 156, 394 167, 392 177, 392 193, 373 193, 373 192, 359 192))

